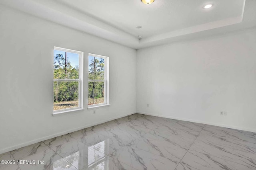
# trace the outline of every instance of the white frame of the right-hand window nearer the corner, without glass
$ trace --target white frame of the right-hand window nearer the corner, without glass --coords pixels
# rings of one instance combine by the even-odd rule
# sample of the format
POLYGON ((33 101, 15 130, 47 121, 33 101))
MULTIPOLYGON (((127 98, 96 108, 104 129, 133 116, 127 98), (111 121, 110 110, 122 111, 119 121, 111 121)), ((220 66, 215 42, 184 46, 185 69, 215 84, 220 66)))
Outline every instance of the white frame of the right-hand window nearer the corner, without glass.
MULTIPOLYGON (((101 104, 92 104, 89 105, 89 101, 88 101, 88 109, 90 108, 95 108, 95 107, 101 107, 101 106, 108 106, 109 105, 109 101, 108 101, 108 85, 109 85, 109 57, 103 56, 103 55, 96 55, 96 54, 88 54, 88 61, 89 61, 89 56, 92 57, 98 57, 98 58, 102 58, 104 59, 104 80, 88 80, 88 82, 104 82, 104 103, 101 104)), ((89 91, 88 91, 89 93, 89 91)))

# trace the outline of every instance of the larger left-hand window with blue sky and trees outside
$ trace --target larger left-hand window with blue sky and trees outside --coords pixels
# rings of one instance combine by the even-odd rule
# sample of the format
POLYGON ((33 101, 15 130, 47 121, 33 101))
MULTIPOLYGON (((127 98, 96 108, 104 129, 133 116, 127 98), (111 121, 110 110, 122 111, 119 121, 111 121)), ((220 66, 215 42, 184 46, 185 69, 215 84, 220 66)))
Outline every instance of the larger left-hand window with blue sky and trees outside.
POLYGON ((83 108, 83 52, 54 47, 54 113, 83 108))

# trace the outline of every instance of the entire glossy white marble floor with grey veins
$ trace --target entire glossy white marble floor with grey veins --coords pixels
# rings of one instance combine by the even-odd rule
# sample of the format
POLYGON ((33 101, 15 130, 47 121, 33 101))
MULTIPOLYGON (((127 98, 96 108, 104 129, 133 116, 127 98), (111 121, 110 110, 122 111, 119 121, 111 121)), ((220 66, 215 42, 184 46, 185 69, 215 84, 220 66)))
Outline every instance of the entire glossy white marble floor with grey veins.
POLYGON ((0 170, 256 170, 256 133, 133 114, 0 160, 35 161, 0 170))

